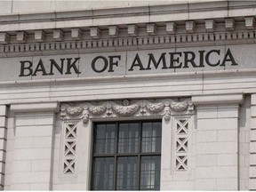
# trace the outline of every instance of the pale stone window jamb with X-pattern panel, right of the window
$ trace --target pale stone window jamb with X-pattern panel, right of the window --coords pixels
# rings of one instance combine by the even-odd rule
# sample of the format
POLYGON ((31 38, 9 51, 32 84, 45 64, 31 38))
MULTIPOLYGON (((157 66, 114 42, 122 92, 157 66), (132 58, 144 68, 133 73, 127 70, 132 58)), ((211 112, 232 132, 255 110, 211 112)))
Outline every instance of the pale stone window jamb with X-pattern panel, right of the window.
POLYGON ((194 114, 162 121, 161 190, 190 190, 194 164, 194 114))

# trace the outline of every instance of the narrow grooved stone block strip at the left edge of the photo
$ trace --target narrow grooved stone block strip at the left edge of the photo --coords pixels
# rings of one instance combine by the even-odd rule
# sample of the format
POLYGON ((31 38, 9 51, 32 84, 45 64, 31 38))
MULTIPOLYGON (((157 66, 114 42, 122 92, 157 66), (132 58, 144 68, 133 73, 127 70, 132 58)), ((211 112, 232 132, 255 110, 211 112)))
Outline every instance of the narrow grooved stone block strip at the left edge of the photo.
POLYGON ((6 153, 6 124, 7 110, 5 105, 0 105, 0 189, 4 189, 4 168, 6 153))

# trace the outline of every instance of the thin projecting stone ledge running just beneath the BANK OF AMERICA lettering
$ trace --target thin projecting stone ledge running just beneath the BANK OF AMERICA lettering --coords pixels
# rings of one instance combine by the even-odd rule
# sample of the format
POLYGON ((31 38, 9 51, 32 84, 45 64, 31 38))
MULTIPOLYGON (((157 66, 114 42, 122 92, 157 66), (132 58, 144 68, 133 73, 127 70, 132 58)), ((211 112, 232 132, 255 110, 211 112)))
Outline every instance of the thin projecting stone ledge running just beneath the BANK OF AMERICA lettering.
MULTIPOLYGON (((166 78, 184 79, 184 78, 203 78, 203 77, 221 77, 221 76, 255 76, 256 68, 246 69, 228 69, 216 71, 195 71, 195 72, 179 72, 179 73, 164 73, 164 74, 142 74, 142 75, 125 75, 125 76, 89 76, 89 77, 74 77, 74 78, 52 78, 52 79, 35 79, 35 80, 20 80, 20 81, 5 81, 0 82, 0 88, 17 87, 20 85, 56 85, 56 84, 88 84, 88 83, 106 83, 106 82, 126 82, 136 80, 156 79, 162 80, 166 78)), ((236 92, 239 93, 239 92, 236 92)), ((253 94, 252 94, 253 96, 253 94)), ((256 94, 255 94, 256 97, 256 94)), ((4 104, 2 104, 4 105, 4 104)))

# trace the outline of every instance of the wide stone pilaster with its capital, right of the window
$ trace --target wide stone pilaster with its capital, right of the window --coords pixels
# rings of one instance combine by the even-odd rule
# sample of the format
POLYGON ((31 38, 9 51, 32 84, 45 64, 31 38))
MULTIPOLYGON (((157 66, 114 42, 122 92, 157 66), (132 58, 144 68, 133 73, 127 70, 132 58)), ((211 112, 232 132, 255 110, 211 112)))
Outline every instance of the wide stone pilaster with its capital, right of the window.
POLYGON ((196 105, 196 190, 238 190, 242 94, 192 97, 196 105))

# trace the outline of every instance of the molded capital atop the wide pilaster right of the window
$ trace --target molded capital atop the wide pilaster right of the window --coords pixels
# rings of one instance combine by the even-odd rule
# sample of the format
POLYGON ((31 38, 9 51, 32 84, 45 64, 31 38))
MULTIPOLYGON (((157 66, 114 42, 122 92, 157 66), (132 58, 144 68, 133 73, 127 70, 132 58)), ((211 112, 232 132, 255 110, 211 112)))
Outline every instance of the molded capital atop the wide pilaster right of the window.
POLYGON ((240 105, 244 102, 244 94, 214 94, 196 95, 191 100, 196 106, 200 105, 240 105))

